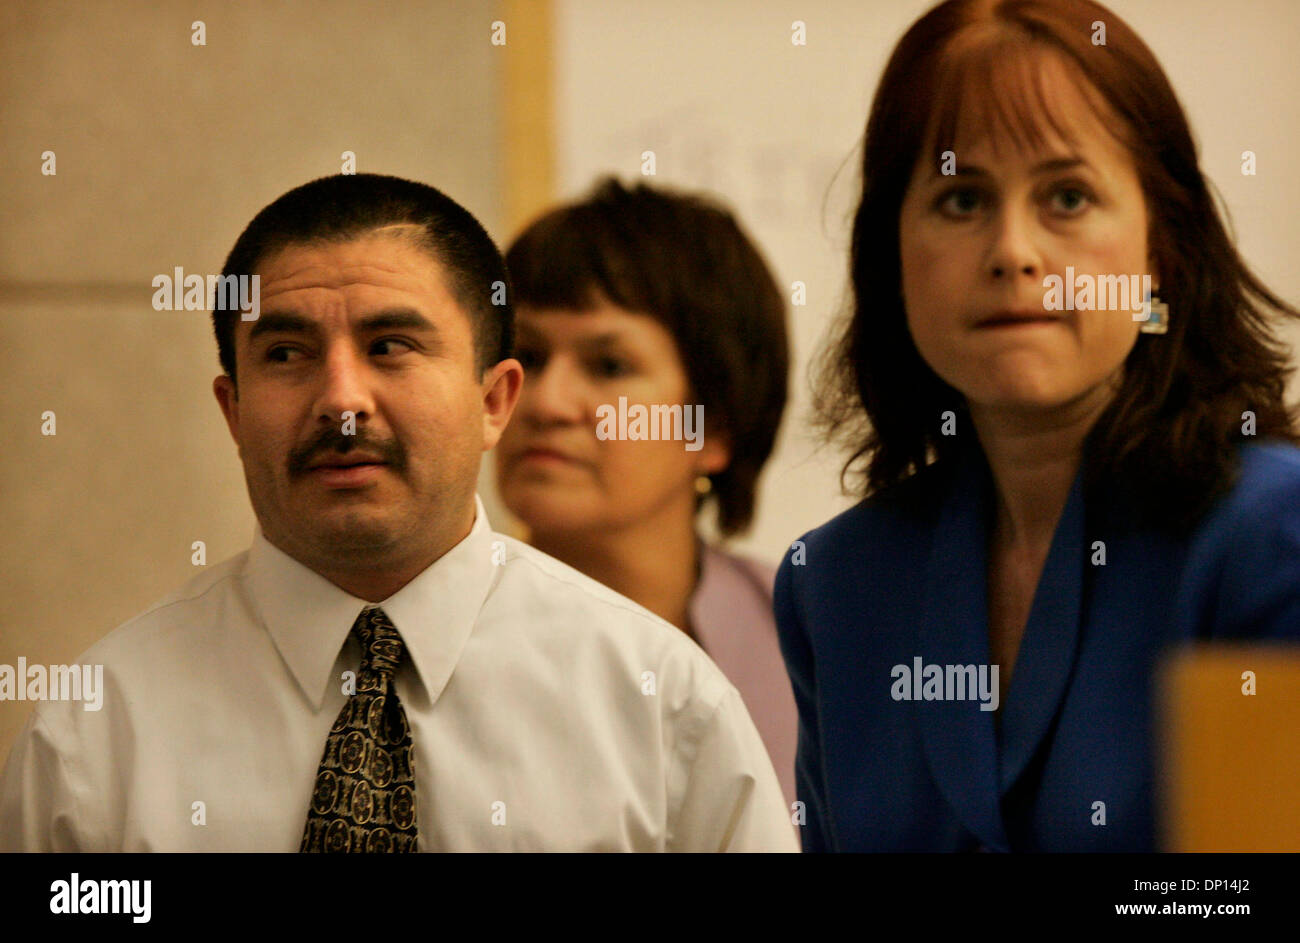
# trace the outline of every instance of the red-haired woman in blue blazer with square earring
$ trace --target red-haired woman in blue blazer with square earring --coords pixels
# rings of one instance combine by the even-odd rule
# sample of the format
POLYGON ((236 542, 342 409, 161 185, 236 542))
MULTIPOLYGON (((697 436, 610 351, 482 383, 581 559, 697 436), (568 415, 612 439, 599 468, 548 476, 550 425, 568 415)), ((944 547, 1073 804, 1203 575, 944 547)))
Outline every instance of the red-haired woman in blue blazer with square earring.
POLYGON ((909 30, 852 278, 820 405, 866 497, 776 581, 803 848, 1154 849, 1161 654, 1300 640, 1265 317, 1300 312, 1234 250, 1150 51, 1088 0, 909 30))

